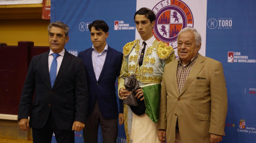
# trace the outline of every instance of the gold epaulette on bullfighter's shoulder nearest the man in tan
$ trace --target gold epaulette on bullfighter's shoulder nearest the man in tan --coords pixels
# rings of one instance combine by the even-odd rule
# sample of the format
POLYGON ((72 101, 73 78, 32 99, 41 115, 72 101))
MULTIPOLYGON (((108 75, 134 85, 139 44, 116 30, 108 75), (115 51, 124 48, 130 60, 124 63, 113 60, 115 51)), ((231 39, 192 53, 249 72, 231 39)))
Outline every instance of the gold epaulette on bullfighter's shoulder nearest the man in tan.
POLYGON ((168 58, 172 52, 174 52, 172 46, 159 41, 157 46, 157 55, 160 59, 168 58))

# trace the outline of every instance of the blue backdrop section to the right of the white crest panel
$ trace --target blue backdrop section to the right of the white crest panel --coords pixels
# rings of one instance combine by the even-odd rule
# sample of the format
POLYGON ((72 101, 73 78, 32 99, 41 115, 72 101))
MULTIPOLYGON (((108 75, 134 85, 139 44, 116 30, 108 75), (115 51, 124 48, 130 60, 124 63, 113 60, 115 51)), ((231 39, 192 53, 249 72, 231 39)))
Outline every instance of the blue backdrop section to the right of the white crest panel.
POLYGON ((222 142, 256 142, 256 1, 207 1, 206 56, 222 62, 228 90, 222 142))

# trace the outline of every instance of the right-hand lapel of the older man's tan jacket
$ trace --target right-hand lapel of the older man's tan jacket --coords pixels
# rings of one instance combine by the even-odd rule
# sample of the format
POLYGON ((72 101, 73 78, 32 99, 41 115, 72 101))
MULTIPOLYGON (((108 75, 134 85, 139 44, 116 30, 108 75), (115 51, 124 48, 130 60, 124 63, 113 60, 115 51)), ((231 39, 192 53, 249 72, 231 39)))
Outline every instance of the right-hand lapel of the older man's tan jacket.
POLYGON ((189 87, 189 85, 194 81, 198 73, 202 70, 204 67, 204 56, 198 55, 198 58, 195 61, 195 64, 193 65, 192 69, 190 70, 189 76, 187 76, 186 82, 184 84, 183 89, 181 90, 181 94, 186 91, 186 89, 189 87))

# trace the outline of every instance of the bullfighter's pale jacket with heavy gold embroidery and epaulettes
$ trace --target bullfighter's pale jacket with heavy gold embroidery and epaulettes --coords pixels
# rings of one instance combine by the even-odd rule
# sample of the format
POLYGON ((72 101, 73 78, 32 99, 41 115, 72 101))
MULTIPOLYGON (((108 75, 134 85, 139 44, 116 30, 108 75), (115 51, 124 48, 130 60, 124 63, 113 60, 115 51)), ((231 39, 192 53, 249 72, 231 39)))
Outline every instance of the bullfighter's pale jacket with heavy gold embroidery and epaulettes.
MULTIPOLYGON (((139 66, 140 40, 134 40, 123 46, 123 61, 118 78, 118 91, 124 86, 123 77, 134 74, 140 86, 152 83, 161 83, 164 66, 175 59, 174 50, 171 46, 162 41, 155 40, 152 46, 148 47, 144 55, 143 63, 139 66)), ((119 95, 119 92, 118 92, 119 95)), ((120 97, 120 95, 119 95, 120 97)), ((120 97, 122 99, 122 97, 120 97)), ((128 105, 123 106, 124 124, 127 142, 130 143, 128 132, 128 105)))

